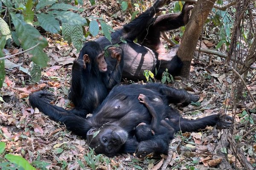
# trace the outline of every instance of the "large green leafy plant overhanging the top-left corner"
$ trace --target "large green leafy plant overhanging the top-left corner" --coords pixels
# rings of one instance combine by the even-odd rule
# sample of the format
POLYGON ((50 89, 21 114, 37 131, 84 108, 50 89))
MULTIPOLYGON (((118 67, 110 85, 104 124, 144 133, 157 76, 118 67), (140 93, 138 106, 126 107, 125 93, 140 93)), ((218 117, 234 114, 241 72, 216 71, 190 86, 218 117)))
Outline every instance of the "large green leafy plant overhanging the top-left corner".
MULTIPOLYGON (((90 3, 95 4, 95 0, 90 0, 90 3)), ((83 1, 75 0, 75 4, 83 5, 83 1)), ((56 0, 3 0, 1 12, 9 15, 6 15, 6 18, 0 18, 0 58, 4 57, 2 50, 5 45, 13 40, 16 45, 20 45, 32 56, 31 60, 34 63, 30 75, 34 82, 39 82, 41 68, 46 67, 49 61, 47 54, 43 51, 48 42, 35 26, 41 26, 50 33, 62 32, 64 40, 69 44, 72 42, 80 51, 85 37, 89 34, 96 36, 99 33, 99 21, 102 34, 111 42, 110 35, 113 31, 111 26, 108 26, 102 18, 81 17, 79 11, 83 10, 67 3, 57 3, 56 0), (10 30, 11 23, 15 26, 15 31, 10 30), (83 36, 83 26, 89 26, 85 36, 83 36)), ((3 85, 4 77, 4 60, 0 59, 0 87, 3 85)))

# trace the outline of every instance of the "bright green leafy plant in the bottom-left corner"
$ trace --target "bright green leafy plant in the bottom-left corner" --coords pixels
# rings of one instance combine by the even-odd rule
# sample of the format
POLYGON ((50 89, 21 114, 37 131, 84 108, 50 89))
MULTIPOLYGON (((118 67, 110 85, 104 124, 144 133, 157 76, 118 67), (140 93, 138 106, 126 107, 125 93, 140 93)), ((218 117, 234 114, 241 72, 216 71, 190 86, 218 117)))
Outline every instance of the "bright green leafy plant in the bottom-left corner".
MULTIPOLYGON (((0 155, 4 153, 6 144, 0 142, 0 155)), ((6 154, 5 159, 0 159, 1 170, 36 170, 29 162, 21 156, 6 154)))

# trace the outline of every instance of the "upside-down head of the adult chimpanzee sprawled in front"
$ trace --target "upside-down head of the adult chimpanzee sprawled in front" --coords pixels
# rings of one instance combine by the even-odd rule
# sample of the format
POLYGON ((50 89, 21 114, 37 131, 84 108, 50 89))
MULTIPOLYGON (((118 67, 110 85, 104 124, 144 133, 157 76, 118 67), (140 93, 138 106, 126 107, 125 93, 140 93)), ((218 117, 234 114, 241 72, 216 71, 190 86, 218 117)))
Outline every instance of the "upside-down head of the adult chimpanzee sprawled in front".
POLYGON ((101 128, 92 127, 87 132, 86 138, 89 147, 94 148, 97 154, 103 153, 107 156, 114 156, 125 144, 128 133, 119 126, 104 125, 101 128))

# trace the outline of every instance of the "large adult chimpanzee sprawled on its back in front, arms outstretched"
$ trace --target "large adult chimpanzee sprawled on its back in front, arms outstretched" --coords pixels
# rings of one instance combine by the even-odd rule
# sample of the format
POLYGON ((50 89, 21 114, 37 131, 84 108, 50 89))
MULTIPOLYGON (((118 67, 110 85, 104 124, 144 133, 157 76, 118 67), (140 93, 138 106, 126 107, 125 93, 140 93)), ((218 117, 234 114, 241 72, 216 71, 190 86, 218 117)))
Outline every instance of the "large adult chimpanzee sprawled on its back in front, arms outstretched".
POLYGON ((221 125, 219 114, 197 120, 180 117, 179 113, 169 107, 169 102, 186 105, 191 101, 197 101, 198 96, 162 84, 115 86, 93 116, 87 119, 51 105, 50 101, 54 98, 49 92, 39 91, 31 94, 29 102, 32 107, 37 107, 51 119, 64 123, 67 129, 86 138, 88 145, 95 148, 96 153, 114 156, 118 153, 134 153, 137 149, 137 156, 140 157, 148 153, 159 154, 162 152, 160 148, 165 147, 163 144, 168 146, 170 139, 163 136, 139 143, 134 139, 134 128, 140 122, 149 124, 152 119, 145 105, 138 102, 139 94, 145 94, 149 100, 160 99, 163 101, 162 104, 152 102, 151 105, 155 110, 163 111, 157 114, 160 114, 160 117, 167 117, 169 125, 175 131, 193 131, 207 125, 221 125), (99 133, 93 138, 93 134, 96 132, 99 133))

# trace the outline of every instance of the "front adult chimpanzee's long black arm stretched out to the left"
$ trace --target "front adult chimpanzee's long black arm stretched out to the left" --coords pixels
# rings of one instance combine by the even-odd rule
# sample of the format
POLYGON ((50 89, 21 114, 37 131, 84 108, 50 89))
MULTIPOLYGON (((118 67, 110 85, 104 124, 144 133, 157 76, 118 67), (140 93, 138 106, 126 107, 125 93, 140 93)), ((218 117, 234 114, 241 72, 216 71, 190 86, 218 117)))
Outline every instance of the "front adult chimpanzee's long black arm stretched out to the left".
POLYGON ((47 91, 38 91, 29 96, 29 102, 32 107, 37 107, 39 111, 48 115, 52 120, 65 124, 68 130, 72 130, 86 139, 87 131, 92 127, 90 122, 69 113, 69 111, 61 107, 51 105, 50 102, 53 99, 53 94, 47 91))

